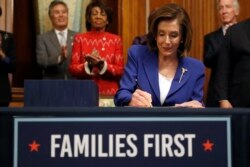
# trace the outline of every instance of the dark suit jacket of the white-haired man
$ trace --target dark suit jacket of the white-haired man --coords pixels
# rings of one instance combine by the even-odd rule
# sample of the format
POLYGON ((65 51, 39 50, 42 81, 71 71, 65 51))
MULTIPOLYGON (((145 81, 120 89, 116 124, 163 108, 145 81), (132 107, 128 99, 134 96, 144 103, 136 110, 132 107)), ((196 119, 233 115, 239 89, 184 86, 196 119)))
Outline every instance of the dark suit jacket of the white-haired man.
POLYGON ((204 64, 207 68, 211 69, 211 75, 208 85, 206 106, 218 107, 218 97, 215 91, 215 77, 217 73, 217 60, 219 52, 224 40, 222 28, 211 32, 204 37, 204 64))

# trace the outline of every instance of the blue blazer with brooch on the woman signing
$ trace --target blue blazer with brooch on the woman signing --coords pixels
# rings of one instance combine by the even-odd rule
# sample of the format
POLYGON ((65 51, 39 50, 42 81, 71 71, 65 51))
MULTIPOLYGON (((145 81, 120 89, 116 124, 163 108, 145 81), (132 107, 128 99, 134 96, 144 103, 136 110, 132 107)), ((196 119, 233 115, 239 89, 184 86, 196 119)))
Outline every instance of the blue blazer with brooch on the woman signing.
POLYGON ((205 67, 201 61, 191 57, 179 59, 176 74, 163 105, 160 102, 158 73, 158 52, 150 51, 147 46, 133 45, 128 51, 124 75, 114 97, 115 105, 128 105, 137 87, 151 94, 153 106, 174 106, 176 103, 190 100, 202 102, 205 67), (183 68, 187 71, 182 75, 183 68))

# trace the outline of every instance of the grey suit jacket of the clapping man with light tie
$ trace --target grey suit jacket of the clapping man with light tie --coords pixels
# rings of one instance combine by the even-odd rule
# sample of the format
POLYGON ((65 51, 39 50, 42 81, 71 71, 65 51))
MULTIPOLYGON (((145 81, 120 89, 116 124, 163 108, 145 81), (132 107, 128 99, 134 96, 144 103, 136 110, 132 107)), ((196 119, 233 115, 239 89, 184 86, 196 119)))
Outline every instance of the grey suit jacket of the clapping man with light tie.
POLYGON ((43 79, 65 79, 72 78, 68 65, 71 59, 73 38, 76 32, 68 30, 67 50, 68 57, 62 63, 58 63, 61 46, 54 30, 48 31, 37 37, 36 57, 37 63, 43 69, 43 79))

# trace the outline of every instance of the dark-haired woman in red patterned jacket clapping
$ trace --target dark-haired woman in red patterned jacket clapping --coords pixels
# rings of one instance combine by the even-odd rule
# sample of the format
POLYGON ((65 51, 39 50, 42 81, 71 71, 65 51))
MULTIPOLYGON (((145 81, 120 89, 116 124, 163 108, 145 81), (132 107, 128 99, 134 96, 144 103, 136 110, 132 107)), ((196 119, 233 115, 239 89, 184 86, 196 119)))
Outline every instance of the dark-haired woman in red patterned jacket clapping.
POLYGON ((94 80, 101 96, 114 96, 124 61, 121 37, 107 32, 112 11, 102 1, 92 1, 85 17, 87 32, 74 38, 69 70, 78 79, 94 80))

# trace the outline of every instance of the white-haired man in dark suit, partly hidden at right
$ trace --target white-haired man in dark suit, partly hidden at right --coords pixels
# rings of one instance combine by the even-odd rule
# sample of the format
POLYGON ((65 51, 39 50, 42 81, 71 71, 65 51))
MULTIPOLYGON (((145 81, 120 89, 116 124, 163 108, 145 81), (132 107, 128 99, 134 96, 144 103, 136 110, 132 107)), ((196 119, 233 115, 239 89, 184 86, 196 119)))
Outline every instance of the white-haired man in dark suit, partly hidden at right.
POLYGON ((222 27, 205 35, 204 37, 204 64, 211 69, 208 93, 206 98, 207 107, 219 107, 215 92, 215 76, 217 73, 217 60, 222 47, 227 29, 237 23, 239 15, 238 0, 217 0, 217 9, 222 27))

